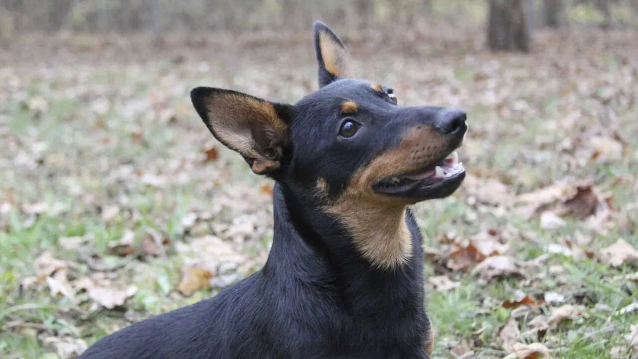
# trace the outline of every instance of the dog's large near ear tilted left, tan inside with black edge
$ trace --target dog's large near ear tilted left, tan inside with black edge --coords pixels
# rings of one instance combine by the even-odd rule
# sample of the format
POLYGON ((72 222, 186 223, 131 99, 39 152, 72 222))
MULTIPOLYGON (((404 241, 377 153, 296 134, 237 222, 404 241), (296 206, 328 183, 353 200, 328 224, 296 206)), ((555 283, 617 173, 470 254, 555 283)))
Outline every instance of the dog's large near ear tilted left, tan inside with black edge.
POLYGON ((212 135, 239 152, 253 172, 278 172, 289 144, 290 105, 212 87, 196 87, 191 101, 212 135))

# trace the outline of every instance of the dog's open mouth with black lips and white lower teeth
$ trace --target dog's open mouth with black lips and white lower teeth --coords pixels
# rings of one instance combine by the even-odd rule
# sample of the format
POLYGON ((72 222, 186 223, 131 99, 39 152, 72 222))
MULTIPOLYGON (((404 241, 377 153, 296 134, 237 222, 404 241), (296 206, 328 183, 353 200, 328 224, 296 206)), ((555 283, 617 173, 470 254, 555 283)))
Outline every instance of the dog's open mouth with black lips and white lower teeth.
POLYGON ((432 166, 378 180, 377 193, 412 198, 442 198, 454 193, 465 178, 465 168, 456 150, 432 166))

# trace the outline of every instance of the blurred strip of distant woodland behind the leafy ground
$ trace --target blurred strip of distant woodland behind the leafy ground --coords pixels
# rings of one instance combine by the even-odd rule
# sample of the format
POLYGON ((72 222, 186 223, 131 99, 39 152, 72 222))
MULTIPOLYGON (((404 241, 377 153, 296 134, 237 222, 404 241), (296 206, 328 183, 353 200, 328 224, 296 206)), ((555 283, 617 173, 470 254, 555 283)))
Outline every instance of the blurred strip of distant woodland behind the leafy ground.
POLYGON ((24 33, 418 31, 437 21, 486 26, 492 50, 529 49, 535 27, 638 26, 638 0, 0 0, 0 36, 24 33), (527 27, 527 29, 525 29, 527 27))

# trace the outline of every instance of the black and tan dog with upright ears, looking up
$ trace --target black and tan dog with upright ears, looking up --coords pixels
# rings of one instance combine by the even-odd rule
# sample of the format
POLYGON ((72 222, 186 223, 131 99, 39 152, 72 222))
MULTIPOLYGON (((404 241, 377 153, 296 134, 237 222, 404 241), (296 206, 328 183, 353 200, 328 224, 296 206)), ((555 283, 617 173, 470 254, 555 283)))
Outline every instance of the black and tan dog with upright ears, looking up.
POLYGON ((422 237, 407 207, 460 186, 465 114, 397 105, 392 89, 356 78, 327 26, 314 34, 320 89, 295 105, 191 92, 212 135, 276 180, 265 266, 80 358, 429 358, 422 237))

